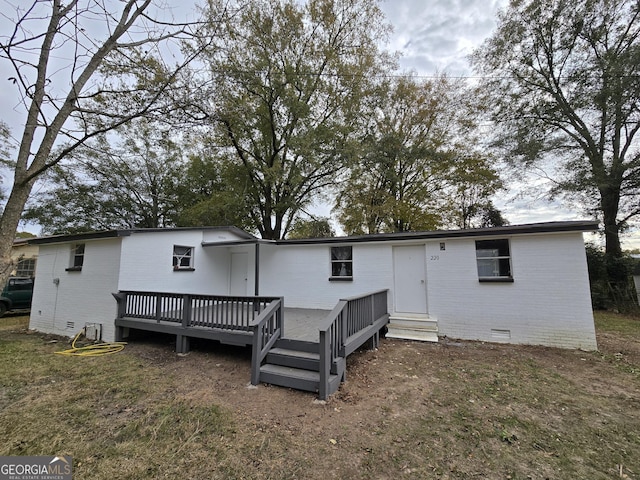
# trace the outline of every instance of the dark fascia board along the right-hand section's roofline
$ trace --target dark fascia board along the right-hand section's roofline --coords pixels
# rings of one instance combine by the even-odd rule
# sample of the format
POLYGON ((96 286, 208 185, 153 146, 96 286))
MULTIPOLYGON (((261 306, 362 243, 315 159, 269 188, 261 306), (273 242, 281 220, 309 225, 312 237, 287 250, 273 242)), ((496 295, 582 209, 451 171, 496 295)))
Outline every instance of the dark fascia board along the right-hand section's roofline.
POLYGON ((461 230, 437 230, 433 232, 400 232, 378 233, 373 235, 355 235, 351 237, 309 238, 295 240, 278 240, 278 245, 307 245, 322 243, 362 243, 388 242, 398 240, 433 240, 467 237, 496 237, 512 235, 531 235, 541 233, 592 232, 598 230, 599 224, 592 220, 568 222, 528 223, 505 227, 471 228, 461 230))

